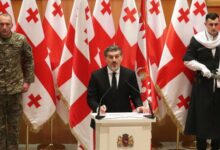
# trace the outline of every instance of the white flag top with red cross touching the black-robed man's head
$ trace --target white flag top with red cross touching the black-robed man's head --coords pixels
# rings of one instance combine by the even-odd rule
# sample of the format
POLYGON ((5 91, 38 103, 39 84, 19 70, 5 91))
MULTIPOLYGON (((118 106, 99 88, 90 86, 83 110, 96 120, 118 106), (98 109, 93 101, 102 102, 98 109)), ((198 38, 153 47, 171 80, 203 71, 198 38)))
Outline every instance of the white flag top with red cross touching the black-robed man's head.
POLYGON ((205 30, 205 16, 208 13, 205 0, 192 0, 190 16, 194 33, 205 30))

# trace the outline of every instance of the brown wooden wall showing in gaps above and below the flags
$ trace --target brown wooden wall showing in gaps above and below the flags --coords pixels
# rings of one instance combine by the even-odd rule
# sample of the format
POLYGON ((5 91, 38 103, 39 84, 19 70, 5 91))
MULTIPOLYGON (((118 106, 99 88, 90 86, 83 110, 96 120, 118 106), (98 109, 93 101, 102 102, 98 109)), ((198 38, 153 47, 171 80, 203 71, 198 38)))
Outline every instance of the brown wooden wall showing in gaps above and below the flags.
MULTIPOLYGON (((212 0, 213 1, 213 0, 212 0)), ((15 13, 15 18, 18 17, 18 13, 20 10, 22 0, 12 0, 12 5, 15 13)), ((62 0, 63 8, 64 8, 64 15, 66 19, 66 23, 68 25, 70 13, 72 10, 73 0, 62 0)), ((115 28, 117 29, 119 16, 121 12, 122 0, 111 0, 113 18, 115 22, 115 28)), ((136 0, 136 4, 138 9, 140 9, 140 2, 141 0, 136 0)), ((188 0, 189 4, 191 0, 188 0)), ((175 0, 162 0, 165 19, 167 25, 170 22, 173 7, 174 7, 175 0)), ((45 12, 47 0, 37 0, 37 4, 39 7, 39 12, 41 15, 41 19, 43 18, 43 14, 45 12)), ((95 0, 89 0, 89 5, 91 11, 94 8, 95 0)), ((209 12, 217 12, 220 13, 220 6, 209 6, 209 12)), ((56 115, 54 119, 54 127, 53 127, 53 141, 54 143, 75 143, 76 140, 74 136, 70 133, 69 127, 65 126, 60 118, 56 115)), ((189 140, 192 137, 183 136, 181 135, 181 139, 189 140)), ((167 116, 160 122, 153 124, 153 141, 175 141, 176 140, 176 126, 167 116), (163 133, 163 134, 161 134, 163 133)), ((21 126, 21 136, 20 136, 21 143, 26 142, 26 126, 25 123, 22 121, 21 126)), ((39 133, 30 133, 29 137, 30 143, 50 143, 50 123, 45 124, 44 128, 39 133)))

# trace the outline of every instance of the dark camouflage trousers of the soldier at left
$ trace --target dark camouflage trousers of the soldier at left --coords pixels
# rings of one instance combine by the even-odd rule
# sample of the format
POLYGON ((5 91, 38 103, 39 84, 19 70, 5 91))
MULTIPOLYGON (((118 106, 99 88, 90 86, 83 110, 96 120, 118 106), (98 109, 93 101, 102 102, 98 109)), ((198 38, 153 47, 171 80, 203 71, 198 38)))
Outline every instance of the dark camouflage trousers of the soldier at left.
POLYGON ((21 94, 0 95, 0 150, 18 150, 21 94))

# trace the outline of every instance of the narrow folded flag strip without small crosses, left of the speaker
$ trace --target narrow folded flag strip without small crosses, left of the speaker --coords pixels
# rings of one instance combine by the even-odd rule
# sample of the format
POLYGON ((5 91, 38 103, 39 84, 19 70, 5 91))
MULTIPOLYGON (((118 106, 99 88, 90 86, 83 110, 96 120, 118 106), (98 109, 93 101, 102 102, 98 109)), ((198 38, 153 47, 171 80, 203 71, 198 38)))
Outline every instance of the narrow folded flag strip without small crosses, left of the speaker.
POLYGON ((62 99, 57 105, 57 111, 62 116, 62 120, 65 124, 69 123, 69 107, 70 107, 70 95, 71 95, 71 77, 72 77, 72 58, 73 58, 73 42, 75 37, 76 18, 78 15, 79 4, 81 0, 74 1, 73 8, 70 16, 68 32, 66 35, 65 44, 62 51, 60 65, 57 74, 57 86, 60 98, 62 99), (68 114, 68 115, 67 115, 68 114))

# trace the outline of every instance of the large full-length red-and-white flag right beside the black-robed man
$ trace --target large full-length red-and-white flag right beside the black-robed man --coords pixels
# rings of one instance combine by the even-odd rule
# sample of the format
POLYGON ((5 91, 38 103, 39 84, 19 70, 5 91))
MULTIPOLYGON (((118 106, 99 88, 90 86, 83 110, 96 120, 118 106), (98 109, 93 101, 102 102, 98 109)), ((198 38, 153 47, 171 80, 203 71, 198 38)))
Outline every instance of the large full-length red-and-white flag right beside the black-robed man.
POLYGON ((159 65, 157 83, 168 106, 169 114, 180 131, 185 127, 193 76, 184 66, 182 57, 192 35, 188 3, 176 0, 159 65))

